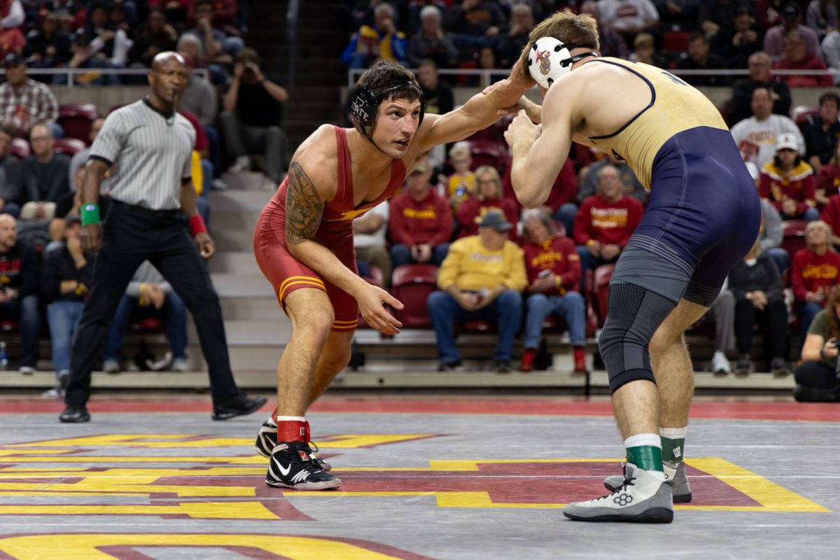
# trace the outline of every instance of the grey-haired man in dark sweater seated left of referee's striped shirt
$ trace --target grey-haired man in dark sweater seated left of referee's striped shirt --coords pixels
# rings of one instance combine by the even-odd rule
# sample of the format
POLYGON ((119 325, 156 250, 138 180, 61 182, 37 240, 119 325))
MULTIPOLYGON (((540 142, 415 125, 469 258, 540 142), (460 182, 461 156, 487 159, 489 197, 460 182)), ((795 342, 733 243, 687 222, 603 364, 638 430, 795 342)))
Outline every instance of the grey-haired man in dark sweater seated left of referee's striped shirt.
POLYGON ((50 220, 55 214, 55 202, 70 191, 67 170, 70 160, 53 149, 52 129, 45 124, 32 127, 29 141, 32 155, 24 160, 23 220, 50 220))

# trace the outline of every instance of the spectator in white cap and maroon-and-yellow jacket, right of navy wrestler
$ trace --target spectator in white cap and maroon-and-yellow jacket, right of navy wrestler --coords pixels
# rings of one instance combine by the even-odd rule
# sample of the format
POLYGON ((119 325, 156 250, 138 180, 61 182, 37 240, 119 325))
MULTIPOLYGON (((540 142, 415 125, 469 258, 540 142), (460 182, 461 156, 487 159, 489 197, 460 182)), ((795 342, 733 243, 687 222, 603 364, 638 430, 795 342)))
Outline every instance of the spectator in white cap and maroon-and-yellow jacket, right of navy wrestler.
POLYGON ((816 220, 814 170, 797 152, 795 135, 780 134, 776 154, 761 168, 759 196, 773 203, 784 220, 816 220))

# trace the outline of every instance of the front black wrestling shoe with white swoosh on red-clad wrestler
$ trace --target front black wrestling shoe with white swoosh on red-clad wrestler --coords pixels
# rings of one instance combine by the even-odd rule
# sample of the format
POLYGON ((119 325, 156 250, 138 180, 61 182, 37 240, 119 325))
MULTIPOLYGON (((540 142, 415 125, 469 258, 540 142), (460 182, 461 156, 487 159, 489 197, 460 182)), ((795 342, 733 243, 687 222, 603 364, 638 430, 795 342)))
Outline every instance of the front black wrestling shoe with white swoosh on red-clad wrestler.
POLYGON ((265 484, 275 488, 328 490, 341 486, 341 480, 312 460, 306 442, 280 442, 271 452, 265 484))

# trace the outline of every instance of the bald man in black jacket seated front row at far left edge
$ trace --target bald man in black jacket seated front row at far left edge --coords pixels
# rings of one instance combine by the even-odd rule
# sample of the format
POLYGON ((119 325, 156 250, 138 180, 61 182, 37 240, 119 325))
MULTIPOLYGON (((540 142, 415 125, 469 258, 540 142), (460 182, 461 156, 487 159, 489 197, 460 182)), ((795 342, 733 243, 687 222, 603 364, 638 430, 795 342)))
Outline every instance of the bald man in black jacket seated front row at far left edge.
POLYGON ((20 373, 32 374, 38 361, 41 315, 38 298, 39 259, 35 249, 18 243, 16 221, 0 214, 0 319, 17 321, 24 356, 20 373))

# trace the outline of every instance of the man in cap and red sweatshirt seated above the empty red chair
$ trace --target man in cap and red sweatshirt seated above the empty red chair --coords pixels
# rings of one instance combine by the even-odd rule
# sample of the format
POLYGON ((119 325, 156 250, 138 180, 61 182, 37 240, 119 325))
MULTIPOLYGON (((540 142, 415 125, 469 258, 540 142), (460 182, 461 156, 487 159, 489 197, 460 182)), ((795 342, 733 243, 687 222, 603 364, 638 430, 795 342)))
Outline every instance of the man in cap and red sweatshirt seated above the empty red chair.
POLYGON ((427 161, 406 178, 402 193, 391 199, 391 264, 440 265, 449 252, 452 212, 449 203, 429 184, 432 170, 427 161))

